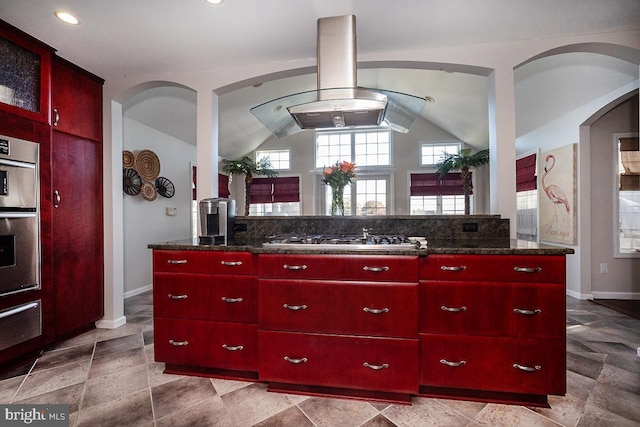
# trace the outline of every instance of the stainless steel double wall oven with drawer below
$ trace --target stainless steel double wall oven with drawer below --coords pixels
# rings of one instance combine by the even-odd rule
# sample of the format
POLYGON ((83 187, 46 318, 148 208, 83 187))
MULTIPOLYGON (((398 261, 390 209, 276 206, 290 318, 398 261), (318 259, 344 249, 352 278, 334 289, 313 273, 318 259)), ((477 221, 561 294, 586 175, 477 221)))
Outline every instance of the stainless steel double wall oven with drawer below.
MULTIPOLYGON (((0 298, 41 286, 38 149, 0 136, 0 298)), ((0 310, 0 350, 41 334, 39 299, 0 310)))

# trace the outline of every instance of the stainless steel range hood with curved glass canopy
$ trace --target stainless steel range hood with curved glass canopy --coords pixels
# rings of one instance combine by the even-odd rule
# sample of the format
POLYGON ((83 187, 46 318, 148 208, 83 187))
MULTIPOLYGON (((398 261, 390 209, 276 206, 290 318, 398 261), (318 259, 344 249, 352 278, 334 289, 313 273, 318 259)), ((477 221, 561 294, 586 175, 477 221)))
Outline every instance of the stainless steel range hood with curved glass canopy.
POLYGON ((357 86, 356 18, 318 19, 318 89, 274 99, 251 109, 275 136, 303 129, 389 127, 406 133, 426 100, 357 86))

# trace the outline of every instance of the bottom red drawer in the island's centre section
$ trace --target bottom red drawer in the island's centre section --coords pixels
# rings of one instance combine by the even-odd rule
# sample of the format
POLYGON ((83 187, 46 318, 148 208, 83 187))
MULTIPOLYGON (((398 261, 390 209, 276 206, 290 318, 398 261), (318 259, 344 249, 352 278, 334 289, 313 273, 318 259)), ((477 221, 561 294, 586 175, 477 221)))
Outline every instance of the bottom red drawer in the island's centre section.
POLYGON ((418 340, 259 331, 261 380, 416 393, 418 340))

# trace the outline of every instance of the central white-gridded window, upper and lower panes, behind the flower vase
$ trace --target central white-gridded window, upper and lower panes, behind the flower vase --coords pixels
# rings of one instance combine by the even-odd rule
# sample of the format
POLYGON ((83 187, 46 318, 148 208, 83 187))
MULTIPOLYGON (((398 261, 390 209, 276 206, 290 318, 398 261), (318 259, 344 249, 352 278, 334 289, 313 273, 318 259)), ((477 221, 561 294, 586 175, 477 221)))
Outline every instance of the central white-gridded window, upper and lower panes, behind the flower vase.
MULTIPOLYGON (((391 213, 391 131, 316 132, 316 168, 346 160, 357 165, 355 185, 345 187, 345 215, 388 215, 391 213), (382 170, 382 171, 381 171, 382 170)), ((320 177, 321 178, 321 177, 320 177)), ((331 189, 321 184, 322 212, 329 214, 331 189)))

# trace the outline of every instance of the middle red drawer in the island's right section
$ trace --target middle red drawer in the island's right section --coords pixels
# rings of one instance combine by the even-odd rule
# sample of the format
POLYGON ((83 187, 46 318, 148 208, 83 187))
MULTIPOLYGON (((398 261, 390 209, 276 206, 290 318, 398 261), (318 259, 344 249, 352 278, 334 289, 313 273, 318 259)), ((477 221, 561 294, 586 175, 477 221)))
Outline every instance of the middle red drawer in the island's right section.
POLYGON ((565 291, 544 283, 420 282, 420 331, 564 337, 565 291))

